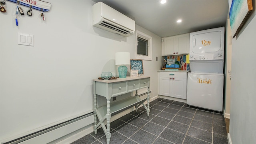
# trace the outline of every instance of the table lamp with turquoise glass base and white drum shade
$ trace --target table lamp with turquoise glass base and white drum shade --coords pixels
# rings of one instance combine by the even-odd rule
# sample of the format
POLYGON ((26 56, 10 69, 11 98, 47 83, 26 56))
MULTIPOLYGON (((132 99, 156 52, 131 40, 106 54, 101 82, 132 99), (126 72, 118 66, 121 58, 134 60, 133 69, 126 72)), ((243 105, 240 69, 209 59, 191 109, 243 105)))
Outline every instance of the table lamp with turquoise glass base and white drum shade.
POLYGON ((116 52, 116 65, 118 67, 119 78, 126 78, 127 67, 124 65, 130 65, 130 52, 116 52))

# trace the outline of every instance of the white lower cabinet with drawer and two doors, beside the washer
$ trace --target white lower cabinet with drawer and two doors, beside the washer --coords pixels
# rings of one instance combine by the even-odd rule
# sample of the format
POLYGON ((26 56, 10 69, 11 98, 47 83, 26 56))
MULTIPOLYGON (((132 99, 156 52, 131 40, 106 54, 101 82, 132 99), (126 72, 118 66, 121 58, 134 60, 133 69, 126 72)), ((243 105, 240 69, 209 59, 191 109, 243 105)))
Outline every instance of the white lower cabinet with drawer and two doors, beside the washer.
POLYGON ((187 98, 187 72, 158 72, 158 94, 187 98))

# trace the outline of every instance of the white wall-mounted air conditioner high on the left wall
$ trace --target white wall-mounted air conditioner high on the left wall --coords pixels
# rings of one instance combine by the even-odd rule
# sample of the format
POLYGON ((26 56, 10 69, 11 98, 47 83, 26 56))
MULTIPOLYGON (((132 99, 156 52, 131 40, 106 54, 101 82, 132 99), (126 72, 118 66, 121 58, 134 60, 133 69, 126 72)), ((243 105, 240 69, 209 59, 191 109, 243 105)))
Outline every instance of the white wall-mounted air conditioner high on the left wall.
POLYGON ((135 32, 134 20, 103 2, 92 6, 92 26, 121 36, 131 36, 135 32))

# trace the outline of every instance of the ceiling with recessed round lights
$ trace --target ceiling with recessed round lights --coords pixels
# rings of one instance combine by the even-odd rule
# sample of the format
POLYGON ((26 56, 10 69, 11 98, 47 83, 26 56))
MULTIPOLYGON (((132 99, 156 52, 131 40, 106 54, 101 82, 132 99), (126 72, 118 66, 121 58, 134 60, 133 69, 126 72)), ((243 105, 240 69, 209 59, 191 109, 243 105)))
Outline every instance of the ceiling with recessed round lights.
POLYGON ((228 0, 92 0, 103 2, 160 36, 174 36, 225 26, 228 0), (182 19, 181 23, 177 23, 182 19))

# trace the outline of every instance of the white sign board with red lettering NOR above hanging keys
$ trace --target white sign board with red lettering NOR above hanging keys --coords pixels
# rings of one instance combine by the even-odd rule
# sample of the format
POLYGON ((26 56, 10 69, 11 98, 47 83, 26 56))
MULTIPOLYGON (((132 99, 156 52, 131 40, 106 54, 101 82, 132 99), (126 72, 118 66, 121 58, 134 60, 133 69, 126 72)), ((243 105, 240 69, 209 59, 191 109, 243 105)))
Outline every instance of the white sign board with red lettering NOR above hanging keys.
POLYGON ((16 4, 34 8, 40 10, 41 12, 48 12, 51 9, 51 3, 44 2, 42 0, 8 0, 16 4))

